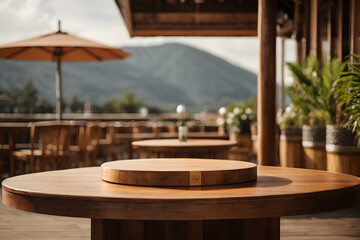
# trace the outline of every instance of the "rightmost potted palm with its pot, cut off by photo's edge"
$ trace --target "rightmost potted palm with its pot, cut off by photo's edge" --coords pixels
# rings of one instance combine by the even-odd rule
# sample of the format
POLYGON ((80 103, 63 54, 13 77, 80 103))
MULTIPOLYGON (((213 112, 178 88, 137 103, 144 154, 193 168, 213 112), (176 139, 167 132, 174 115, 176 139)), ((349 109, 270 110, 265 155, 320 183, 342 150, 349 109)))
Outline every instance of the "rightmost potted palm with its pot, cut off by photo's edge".
POLYGON ((347 67, 334 84, 346 118, 342 126, 327 128, 328 170, 360 176, 360 63, 347 62, 347 67))

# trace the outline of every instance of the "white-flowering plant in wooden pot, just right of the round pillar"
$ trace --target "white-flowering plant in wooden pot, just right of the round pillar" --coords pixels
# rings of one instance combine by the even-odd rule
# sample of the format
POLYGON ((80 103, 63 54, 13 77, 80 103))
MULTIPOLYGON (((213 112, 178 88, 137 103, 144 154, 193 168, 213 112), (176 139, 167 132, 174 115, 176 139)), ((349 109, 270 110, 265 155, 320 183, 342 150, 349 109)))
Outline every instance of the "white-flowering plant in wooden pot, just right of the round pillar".
POLYGON ((280 125, 280 165, 282 167, 302 167, 301 117, 294 105, 278 115, 280 125))

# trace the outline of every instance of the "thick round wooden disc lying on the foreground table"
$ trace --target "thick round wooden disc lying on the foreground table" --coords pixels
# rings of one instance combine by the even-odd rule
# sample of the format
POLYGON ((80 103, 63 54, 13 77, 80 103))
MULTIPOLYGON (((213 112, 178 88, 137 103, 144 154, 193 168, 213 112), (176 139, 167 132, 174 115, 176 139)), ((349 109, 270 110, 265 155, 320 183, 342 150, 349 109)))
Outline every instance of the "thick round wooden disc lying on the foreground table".
POLYGON ((240 161, 163 158, 107 162, 101 178, 137 186, 213 186, 256 180, 256 164, 240 161))

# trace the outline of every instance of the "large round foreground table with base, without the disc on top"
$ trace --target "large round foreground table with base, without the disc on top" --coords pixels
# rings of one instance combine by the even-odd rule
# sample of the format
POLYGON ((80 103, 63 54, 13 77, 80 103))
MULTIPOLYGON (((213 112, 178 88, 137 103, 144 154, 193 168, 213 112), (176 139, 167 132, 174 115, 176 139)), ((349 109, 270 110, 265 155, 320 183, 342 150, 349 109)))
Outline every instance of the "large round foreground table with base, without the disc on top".
POLYGON ((91 239, 280 239, 281 216, 360 202, 357 177, 261 166, 256 181, 221 186, 120 185, 92 167, 12 177, 2 188, 9 207, 91 218, 91 239))

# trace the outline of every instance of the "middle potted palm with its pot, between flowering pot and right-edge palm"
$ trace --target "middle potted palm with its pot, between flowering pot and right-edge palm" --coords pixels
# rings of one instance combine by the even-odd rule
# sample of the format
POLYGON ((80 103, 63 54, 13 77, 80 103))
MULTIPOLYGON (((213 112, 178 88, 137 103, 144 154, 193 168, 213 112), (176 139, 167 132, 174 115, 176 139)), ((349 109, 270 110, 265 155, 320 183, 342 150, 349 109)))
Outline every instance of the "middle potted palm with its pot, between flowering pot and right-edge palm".
POLYGON ((287 63, 294 83, 287 88, 293 103, 300 109, 303 122, 304 167, 326 169, 326 124, 336 121, 336 101, 333 83, 344 69, 334 58, 320 70, 315 57, 304 65, 287 63))

